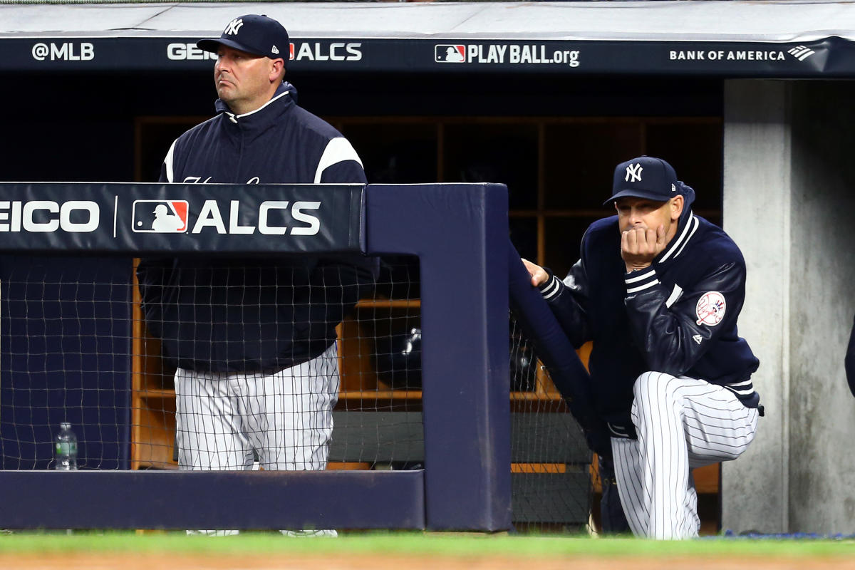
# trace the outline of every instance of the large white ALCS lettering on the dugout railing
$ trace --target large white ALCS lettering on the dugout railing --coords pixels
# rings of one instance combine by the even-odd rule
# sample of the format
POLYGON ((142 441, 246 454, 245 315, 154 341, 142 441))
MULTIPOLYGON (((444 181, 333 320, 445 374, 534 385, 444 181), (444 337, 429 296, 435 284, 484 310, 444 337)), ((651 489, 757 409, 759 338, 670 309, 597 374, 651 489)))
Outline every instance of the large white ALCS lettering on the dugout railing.
POLYGON ((314 236, 321 229, 321 220, 314 215, 307 214, 305 210, 316 210, 321 207, 320 202, 297 201, 288 207, 287 200, 268 200, 262 202, 258 207, 258 226, 241 226, 239 220, 240 202, 232 200, 228 212, 228 229, 220 212, 216 200, 205 200, 199 211, 196 223, 191 233, 199 233, 206 227, 213 227, 217 233, 249 234, 258 229, 259 233, 268 236, 314 236), (291 226, 291 221, 296 221, 301 226, 291 226), (277 223, 278 222, 278 223, 277 223))

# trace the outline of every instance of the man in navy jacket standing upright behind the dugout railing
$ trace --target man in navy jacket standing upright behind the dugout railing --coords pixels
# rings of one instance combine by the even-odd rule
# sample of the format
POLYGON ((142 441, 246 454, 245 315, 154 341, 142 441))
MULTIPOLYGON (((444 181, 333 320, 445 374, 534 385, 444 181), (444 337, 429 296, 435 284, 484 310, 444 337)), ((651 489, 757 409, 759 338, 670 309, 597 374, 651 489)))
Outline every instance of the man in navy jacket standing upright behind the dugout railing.
MULTIPOLYGON (((365 183, 351 144, 284 82, 290 48, 278 21, 240 16, 197 45, 217 54, 218 115, 174 141, 162 182, 365 183)), ((335 327, 371 291, 375 267, 363 256, 140 263, 148 329, 177 366, 181 469, 250 469, 254 452, 268 470, 326 467, 335 327)))

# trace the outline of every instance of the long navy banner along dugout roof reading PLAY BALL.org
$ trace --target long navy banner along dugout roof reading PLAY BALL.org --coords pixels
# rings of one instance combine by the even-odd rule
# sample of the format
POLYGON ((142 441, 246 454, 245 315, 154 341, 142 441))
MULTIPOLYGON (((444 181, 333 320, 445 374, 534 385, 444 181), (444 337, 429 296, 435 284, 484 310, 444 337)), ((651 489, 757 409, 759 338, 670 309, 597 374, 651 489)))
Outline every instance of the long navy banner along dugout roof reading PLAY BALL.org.
MULTIPOLYGON (((3 71, 209 70, 196 38, 3 38, 3 71)), ((855 43, 292 38, 294 71, 855 76, 855 43)))

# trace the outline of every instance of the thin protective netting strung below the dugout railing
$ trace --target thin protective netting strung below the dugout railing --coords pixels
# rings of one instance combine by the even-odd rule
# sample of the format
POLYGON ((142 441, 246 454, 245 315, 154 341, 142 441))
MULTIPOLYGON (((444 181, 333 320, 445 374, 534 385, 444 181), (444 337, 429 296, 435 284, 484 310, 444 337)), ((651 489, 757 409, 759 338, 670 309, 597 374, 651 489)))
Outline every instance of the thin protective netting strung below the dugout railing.
MULTIPOLYGON (((3 469, 54 467, 63 421, 81 469, 424 467, 416 257, 285 261, 0 258, 3 469)), ((575 528, 590 457, 509 315, 513 519, 575 528)))

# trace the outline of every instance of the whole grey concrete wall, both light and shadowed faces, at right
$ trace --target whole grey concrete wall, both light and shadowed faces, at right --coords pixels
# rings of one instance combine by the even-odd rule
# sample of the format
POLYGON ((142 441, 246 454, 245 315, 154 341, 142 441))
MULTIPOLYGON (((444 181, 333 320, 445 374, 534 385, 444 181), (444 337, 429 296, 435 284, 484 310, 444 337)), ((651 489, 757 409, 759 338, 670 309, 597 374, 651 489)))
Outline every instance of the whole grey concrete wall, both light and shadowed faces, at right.
POLYGON ((761 361, 758 437, 722 467, 722 526, 855 532, 855 84, 725 85, 724 227, 748 265, 740 334, 761 361))

